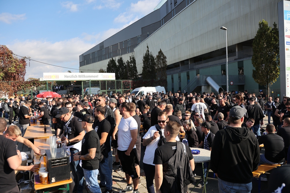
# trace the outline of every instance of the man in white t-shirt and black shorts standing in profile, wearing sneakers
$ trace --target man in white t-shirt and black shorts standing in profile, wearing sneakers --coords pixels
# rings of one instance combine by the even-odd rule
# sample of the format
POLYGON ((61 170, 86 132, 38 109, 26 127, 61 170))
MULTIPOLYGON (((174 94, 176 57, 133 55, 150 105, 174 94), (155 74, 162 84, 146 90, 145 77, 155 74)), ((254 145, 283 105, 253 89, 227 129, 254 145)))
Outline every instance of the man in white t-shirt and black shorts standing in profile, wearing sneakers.
POLYGON ((130 116, 130 106, 127 102, 122 102, 120 104, 119 111, 123 117, 118 126, 118 155, 127 179, 126 188, 119 192, 133 191, 133 193, 138 193, 138 174, 135 168, 135 164, 139 164, 135 145, 137 141, 138 124, 135 119, 130 116), (134 189, 132 187, 132 180, 134 189))

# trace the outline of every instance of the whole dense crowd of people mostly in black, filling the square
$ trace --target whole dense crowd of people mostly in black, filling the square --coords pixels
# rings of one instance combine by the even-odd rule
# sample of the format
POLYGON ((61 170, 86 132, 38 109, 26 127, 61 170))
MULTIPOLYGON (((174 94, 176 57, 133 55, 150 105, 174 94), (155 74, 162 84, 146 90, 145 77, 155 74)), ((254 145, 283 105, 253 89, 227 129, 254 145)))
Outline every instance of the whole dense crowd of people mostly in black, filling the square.
MULTIPOLYGON (((180 91, 143 96, 68 94, 53 99, 6 99, 4 103, 0 101, 0 113, 9 119, 8 130, 20 128, 17 136, 22 139, 33 112, 39 112, 34 119, 49 124, 56 132, 57 143, 66 143, 70 149, 73 192, 83 192, 85 186, 91 192, 105 189, 111 193, 115 167, 115 172, 125 173, 127 181, 127 186, 119 192, 138 193, 140 162, 143 162, 149 193, 155 190, 187 192, 188 184, 195 182, 196 175, 191 147, 211 151, 210 169, 218 177, 219 192, 250 192, 252 171, 259 164, 282 164, 290 156, 290 98, 283 97, 281 104, 279 98, 272 101, 268 97, 266 103, 265 98, 263 92, 256 96, 247 91, 217 95, 180 91), (12 123, 13 111, 14 121, 19 118, 17 126, 16 122, 12 123), (268 124, 264 133, 265 115, 268 124), (143 132, 140 132, 141 125, 143 132), (185 133, 188 145, 180 143, 180 133, 185 133), (141 141, 146 146, 143 160, 141 141), (260 155, 259 144, 264 144, 265 154, 260 155)), ((2 134, 5 128, 6 125, 0 128, 2 134)), ((25 143, 38 152, 33 144, 25 143)), ((18 152, 13 151, 9 156, 16 160, 18 152)), ((8 159, 4 156, 2 159, 10 167, 8 159)), ((15 163, 8 172, 18 168, 18 162, 15 163)), ((33 170, 33 167, 26 169, 33 170)), ((261 180, 266 181, 266 175, 261 180)), ((0 187, 3 183, 0 182, 0 187)), ((205 183, 208 182, 202 181, 198 186, 203 187, 205 183)), ((15 183, 9 185, 10 189, 15 188, 15 183)))

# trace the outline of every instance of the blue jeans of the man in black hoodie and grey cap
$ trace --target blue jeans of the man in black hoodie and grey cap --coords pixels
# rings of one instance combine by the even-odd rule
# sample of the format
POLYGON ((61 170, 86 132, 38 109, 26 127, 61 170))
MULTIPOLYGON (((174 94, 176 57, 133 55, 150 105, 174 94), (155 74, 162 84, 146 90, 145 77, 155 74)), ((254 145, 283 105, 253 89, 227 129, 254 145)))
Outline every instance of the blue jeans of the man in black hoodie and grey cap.
POLYGON ((252 190, 252 182, 250 183, 231 183, 218 178, 218 190, 220 193, 250 193, 252 190))

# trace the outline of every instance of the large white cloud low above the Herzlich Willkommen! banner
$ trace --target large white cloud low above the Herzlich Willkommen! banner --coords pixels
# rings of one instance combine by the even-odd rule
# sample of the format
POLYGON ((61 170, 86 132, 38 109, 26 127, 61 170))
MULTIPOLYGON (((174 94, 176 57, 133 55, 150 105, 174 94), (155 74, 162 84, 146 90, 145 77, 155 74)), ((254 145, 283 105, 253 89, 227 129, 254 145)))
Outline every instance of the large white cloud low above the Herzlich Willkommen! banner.
MULTIPOLYGON (((25 80, 29 77, 43 77, 43 72, 79 72, 79 55, 95 46, 86 43, 78 37, 60 42, 47 42, 41 40, 26 40, 20 42, 15 40, 7 47, 19 56, 30 56, 31 59, 53 64, 62 67, 74 68, 67 69, 30 61, 30 67, 26 67, 25 80)), ((29 61, 27 61, 27 64, 29 61)))

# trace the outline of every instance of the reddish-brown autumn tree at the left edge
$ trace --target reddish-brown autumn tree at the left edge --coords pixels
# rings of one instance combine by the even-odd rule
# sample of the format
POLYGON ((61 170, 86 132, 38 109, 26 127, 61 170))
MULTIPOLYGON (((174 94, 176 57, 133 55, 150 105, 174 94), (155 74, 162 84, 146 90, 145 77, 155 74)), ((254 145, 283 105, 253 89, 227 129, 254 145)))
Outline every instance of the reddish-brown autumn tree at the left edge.
POLYGON ((12 50, 5 45, 0 45, 0 80, 24 81, 26 74, 26 59, 13 56, 12 50))

